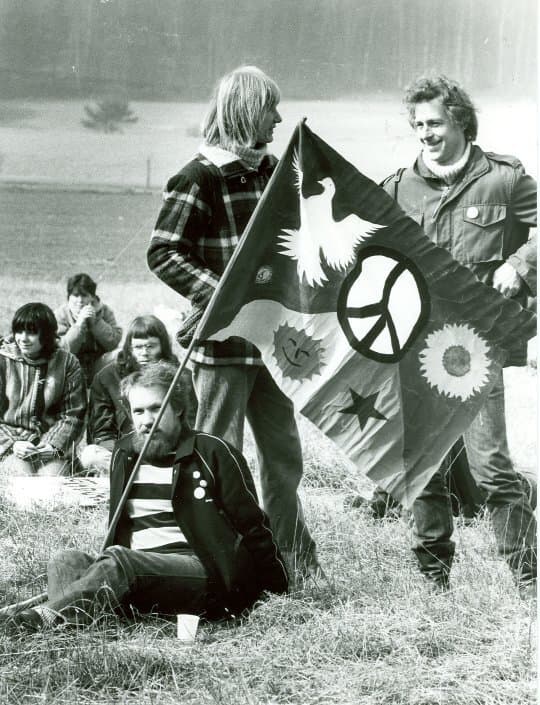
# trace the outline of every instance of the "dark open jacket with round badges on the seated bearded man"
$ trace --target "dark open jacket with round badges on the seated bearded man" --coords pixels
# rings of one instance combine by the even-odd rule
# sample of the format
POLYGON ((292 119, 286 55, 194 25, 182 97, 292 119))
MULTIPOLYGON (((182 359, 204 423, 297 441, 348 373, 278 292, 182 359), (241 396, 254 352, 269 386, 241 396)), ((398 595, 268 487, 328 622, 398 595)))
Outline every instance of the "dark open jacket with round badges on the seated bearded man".
MULTIPOLYGON (((113 453, 110 521, 135 461, 129 435, 113 453)), ((287 592, 287 572, 244 457, 216 436, 189 431, 165 465, 171 462, 173 512, 208 574, 209 616, 237 615, 265 590, 287 592)), ((126 511, 110 533, 109 545, 129 547, 126 511)))

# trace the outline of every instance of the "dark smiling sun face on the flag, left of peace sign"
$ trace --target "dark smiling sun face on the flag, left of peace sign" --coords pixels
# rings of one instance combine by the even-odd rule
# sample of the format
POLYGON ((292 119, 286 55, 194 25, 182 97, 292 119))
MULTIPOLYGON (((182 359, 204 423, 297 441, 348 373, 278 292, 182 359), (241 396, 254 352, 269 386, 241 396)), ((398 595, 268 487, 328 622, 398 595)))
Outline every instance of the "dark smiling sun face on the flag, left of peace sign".
POLYGON ((313 338, 306 330, 299 330, 283 323, 274 333, 274 357, 289 379, 311 379, 321 373, 324 348, 322 341, 313 338))

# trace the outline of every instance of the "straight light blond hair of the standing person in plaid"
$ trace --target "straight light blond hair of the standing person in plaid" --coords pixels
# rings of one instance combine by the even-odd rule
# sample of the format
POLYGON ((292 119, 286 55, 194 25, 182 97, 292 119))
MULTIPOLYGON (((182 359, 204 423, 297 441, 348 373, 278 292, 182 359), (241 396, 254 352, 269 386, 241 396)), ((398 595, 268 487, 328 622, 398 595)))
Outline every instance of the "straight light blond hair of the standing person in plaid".
POLYGON ((267 109, 279 103, 276 83, 256 66, 240 66, 218 82, 202 123, 206 144, 236 152, 253 147, 267 109))

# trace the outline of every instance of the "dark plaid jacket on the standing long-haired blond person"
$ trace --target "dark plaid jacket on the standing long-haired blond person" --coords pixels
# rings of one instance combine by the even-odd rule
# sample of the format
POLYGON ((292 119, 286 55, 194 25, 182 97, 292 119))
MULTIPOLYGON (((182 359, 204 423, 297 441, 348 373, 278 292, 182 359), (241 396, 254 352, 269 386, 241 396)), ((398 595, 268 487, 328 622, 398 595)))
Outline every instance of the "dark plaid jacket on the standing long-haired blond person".
MULTIPOLYGON (((196 314, 190 317, 191 334, 200 317, 197 313, 202 315, 208 304, 276 164, 277 159, 267 155, 258 169, 252 169, 235 154, 204 145, 167 183, 148 266, 192 302, 196 314)), ((242 338, 197 346, 192 360, 262 365, 257 348, 242 338)))

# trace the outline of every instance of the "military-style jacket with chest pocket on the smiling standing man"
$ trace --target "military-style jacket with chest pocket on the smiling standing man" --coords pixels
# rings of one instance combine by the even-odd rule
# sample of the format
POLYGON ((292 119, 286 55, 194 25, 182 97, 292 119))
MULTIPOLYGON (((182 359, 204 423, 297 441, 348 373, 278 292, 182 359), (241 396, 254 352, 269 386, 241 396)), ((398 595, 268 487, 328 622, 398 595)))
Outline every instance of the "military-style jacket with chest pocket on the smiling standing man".
MULTIPOLYGON (((512 156, 483 152, 474 145, 465 171, 447 186, 418 157, 383 182, 387 193, 480 281, 490 286, 501 264, 523 279, 516 299, 526 305, 536 295, 536 247, 528 241, 536 227, 536 182, 512 156)), ((507 365, 526 363, 526 343, 517 341, 507 365)))

